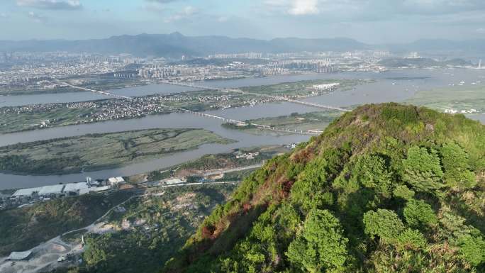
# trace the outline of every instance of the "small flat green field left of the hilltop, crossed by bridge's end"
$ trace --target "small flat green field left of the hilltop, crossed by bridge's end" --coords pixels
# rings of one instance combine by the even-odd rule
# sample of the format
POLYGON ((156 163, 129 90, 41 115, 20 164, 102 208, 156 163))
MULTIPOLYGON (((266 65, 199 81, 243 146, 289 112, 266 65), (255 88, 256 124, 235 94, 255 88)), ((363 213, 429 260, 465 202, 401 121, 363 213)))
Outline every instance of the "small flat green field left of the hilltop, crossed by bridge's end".
MULTIPOLYGON (((335 118, 338 118, 342 112, 340 111, 324 111, 312 113, 291 113, 289 116, 278 116, 275 118, 257 118, 246 122, 252 124, 260 124, 274 128, 298 130, 306 132, 307 130, 325 129, 335 118)), ((267 130, 264 128, 257 128, 256 126, 237 126, 230 123, 223 124, 225 128, 235 130, 244 130, 247 133, 255 135, 286 135, 290 133, 267 130)))

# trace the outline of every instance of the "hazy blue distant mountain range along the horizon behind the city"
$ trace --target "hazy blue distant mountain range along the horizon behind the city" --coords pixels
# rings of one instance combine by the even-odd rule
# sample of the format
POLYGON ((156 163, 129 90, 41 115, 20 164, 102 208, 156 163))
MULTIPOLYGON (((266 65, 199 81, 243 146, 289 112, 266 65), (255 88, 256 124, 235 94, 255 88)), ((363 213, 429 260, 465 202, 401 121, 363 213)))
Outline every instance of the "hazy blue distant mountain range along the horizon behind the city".
POLYGON ((382 49, 391 51, 456 51, 485 53, 484 40, 418 40, 408 44, 369 45, 350 38, 257 40, 225 36, 185 36, 181 33, 121 35, 96 40, 0 40, 0 52, 67 51, 130 53, 136 56, 180 57, 238 52, 301 52, 382 49))

